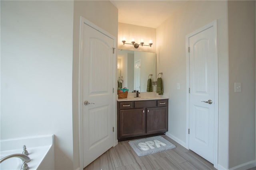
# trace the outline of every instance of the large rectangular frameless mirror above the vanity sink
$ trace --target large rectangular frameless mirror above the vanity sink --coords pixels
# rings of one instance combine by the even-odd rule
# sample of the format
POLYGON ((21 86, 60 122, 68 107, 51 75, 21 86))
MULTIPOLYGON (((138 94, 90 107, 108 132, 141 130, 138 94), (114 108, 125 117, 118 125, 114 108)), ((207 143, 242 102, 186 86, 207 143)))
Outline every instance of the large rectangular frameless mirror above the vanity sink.
POLYGON ((117 69, 119 88, 126 87, 129 92, 132 92, 132 90, 147 92, 148 78, 151 78, 153 92, 156 92, 155 53, 118 50, 117 69))

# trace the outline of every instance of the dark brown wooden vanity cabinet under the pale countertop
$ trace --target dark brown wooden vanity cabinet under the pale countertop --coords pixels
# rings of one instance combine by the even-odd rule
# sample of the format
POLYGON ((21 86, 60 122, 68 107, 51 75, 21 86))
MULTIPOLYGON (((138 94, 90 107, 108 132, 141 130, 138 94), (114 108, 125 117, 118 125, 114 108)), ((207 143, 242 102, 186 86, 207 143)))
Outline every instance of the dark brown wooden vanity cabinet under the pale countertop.
POLYGON ((168 129, 168 99, 118 102, 118 141, 168 129))

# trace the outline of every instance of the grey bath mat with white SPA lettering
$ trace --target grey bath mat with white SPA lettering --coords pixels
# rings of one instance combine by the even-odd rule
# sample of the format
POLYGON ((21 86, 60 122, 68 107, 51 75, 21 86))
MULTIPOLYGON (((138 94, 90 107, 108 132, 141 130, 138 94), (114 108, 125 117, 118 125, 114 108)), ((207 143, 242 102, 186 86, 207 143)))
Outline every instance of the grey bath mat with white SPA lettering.
POLYGON ((176 148, 175 145, 161 136, 149 137, 135 141, 129 141, 130 146, 138 156, 162 152, 176 148))

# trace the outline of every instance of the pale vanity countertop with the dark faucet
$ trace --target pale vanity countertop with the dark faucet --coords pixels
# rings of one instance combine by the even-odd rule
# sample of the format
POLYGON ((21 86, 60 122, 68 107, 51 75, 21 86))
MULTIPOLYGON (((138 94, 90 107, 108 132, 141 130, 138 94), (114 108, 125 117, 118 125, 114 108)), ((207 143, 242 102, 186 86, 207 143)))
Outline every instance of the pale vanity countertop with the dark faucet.
POLYGON ((136 93, 128 93, 127 98, 118 99, 118 102, 126 102, 126 101, 137 101, 137 100, 160 100, 160 99, 168 99, 164 96, 160 96, 155 92, 141 92, 139 94, 139 98, 136 98, 136 93))

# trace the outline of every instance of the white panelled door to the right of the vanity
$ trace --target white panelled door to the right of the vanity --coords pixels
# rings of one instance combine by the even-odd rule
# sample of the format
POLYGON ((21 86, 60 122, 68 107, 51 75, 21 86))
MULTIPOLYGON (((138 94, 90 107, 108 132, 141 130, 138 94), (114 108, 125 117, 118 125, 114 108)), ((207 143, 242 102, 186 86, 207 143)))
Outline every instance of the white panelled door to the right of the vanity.
POLYGON ((209 27, 189 37, 189 149, 214 162, 215 30, 209 27))

